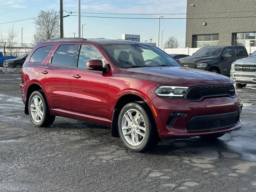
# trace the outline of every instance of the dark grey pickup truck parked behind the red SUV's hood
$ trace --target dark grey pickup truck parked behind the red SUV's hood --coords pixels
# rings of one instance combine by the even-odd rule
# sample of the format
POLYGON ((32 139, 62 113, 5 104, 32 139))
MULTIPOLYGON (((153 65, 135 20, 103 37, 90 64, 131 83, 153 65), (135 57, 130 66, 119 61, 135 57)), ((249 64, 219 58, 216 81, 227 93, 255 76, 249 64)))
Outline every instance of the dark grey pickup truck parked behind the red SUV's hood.
POLYGON ((248 57, 248 53, 244 46, 207 46, 192 56, 181 58, 180 64, 230 76, 232 62, 245 57, 248 57))

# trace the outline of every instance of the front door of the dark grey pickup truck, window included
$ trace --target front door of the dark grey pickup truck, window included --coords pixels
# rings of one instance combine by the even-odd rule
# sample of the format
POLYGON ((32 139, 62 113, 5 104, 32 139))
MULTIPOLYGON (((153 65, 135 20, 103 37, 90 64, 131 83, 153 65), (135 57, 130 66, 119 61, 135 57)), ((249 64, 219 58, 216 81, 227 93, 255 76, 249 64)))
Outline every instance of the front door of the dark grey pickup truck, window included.
POLYGON ((220 70, 222 75, 230 76, 231 64, 236 60, 234 50, 232 47, 226 47, 221 53, 222 59, 220 60, 220 70))

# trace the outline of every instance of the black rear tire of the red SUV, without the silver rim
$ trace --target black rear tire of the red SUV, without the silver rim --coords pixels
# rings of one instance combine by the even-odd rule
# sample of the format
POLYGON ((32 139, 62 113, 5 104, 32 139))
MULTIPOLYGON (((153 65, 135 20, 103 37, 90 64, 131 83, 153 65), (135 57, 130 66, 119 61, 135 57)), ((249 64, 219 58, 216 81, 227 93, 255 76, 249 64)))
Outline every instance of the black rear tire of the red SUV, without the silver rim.
POLYGON ((29 113, 29 116, 30 116, 30 120, 37 127, 48 127, 55 120, 55 116, 50 114, 50 110, 48 108, 48 104, 47 104, 47 101, 46 101, 46 98, 45 98, 44 94, 42 94, 40 91, 34 91, 30 95, 30 98, 28 100, 28 113, 29 113), (38 96, 38 98, 40 98, 40 100, 42 101, 43 115, 42 115, 42 118, 41 118, 40 122, 36 122, 33 119, 32 114, 31 114, 30 105, 31 105, 31 100, 34 98, 34 96, 38 96))

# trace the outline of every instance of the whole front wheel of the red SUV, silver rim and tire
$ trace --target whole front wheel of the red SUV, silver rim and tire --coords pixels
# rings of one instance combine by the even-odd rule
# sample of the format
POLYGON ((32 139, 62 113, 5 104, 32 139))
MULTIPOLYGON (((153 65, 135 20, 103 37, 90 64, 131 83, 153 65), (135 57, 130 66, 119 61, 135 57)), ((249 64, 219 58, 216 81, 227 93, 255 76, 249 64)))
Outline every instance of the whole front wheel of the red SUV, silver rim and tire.
POLYGON ((128 103, 120 111, 118 132, 127 148, 135 152, 150 149, 159 142, 152 115, 141 103, 128 103))

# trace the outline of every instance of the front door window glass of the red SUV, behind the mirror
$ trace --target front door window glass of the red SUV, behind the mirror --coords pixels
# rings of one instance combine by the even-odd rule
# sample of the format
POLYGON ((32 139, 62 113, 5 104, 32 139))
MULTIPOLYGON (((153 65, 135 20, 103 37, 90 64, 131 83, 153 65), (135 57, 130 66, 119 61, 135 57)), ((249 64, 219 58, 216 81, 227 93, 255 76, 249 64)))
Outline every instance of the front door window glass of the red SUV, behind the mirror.
POLYGON ((89 60, 100 59, 104 64, 104 59, 101 56, 100 52, 96 50, 93 46, 90 45, 82 45, 80 48, 79 58, 78 58, 78 66, 79 68, 86 68, 86 64, 89 60))

